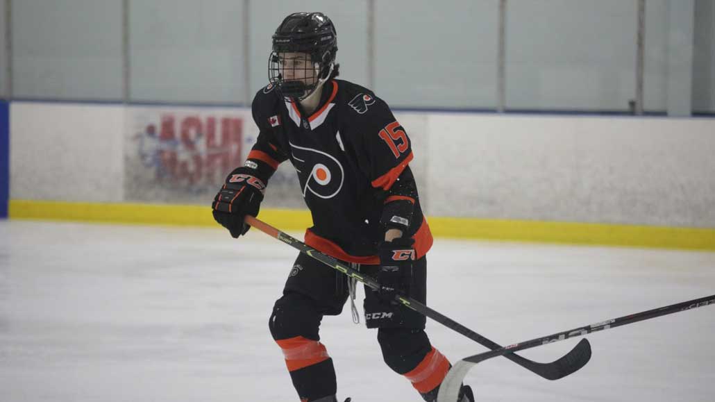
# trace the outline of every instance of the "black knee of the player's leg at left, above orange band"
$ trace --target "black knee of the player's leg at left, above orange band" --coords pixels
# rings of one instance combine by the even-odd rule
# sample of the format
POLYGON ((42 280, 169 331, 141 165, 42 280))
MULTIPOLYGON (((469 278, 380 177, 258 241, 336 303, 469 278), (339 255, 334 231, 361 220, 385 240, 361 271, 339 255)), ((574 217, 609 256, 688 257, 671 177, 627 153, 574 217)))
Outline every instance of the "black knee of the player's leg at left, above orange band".
POLYGON ((268 321, 274 340, 302 336, 318 340, 322 315, 317 313, 312 300, 298 293, 287 293, 276 300, 268 321))

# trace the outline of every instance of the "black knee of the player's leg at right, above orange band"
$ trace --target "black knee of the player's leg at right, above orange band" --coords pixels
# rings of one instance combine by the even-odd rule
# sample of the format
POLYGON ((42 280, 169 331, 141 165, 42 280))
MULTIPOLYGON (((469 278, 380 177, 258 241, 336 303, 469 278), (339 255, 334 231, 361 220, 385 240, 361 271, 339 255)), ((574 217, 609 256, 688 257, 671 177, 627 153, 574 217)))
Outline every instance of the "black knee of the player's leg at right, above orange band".
POLYGON ((398 374, 413 370, 432 350, 425 331, 415 328, 380 328, 378 343, 385 363, 398 374))

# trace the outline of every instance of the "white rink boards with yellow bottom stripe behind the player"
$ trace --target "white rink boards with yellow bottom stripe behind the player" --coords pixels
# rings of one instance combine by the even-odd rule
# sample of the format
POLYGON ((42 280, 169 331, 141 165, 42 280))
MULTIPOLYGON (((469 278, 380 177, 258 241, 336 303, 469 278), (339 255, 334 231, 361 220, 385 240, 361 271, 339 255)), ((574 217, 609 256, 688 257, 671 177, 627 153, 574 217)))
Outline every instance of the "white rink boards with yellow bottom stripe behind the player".
MULTIPOLYGON (((435 235, 715 249, 714 119, 396 117, 435 235)), ((9 131, 11 217, 180 225, 213 224, 257 135, 248 109, 41 102, 9 131)), ((262 216, 310 225, 296 182, 283 164, 262 216)))

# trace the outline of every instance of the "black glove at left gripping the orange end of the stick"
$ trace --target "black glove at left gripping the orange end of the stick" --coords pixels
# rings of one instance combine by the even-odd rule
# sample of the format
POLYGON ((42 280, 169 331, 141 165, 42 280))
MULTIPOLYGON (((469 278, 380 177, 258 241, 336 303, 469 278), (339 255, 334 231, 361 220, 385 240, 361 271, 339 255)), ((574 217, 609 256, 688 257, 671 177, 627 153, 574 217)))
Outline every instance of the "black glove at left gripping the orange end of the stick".
POLYGON ((246 215, 258 215, 263 200, 266 186, 251 175, 253 172, 255 170, 248 167, 238 167, 231 172, 211 205, 216 222, 227 228, 234 238, 250 229, 243 220, 246 215))

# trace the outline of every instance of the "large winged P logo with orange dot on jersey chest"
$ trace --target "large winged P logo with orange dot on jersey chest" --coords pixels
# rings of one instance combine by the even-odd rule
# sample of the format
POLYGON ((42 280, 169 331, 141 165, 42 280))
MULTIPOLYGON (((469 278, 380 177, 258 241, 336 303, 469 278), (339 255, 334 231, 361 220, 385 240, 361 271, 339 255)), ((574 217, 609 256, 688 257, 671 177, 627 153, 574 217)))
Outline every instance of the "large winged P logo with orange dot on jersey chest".
POLYGON ((345 171, 340 162, 325 152, 290 143, 295 170, 300 178, 303 197, 307 194, 322 199, 335 197, 342 189, 345 171))

